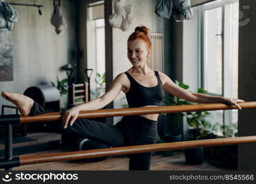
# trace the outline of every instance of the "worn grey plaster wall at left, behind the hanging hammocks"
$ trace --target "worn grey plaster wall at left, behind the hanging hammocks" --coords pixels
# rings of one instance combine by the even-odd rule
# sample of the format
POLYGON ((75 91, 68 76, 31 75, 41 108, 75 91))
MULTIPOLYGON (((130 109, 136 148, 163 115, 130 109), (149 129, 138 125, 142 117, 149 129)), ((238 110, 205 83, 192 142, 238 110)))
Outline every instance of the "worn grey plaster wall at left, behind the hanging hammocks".
MULTIPOLYGON (((33 4, 33 1, 8 1, 33 4)), ((61 1, 61 9, 68 27, 57 35, 50 23, 53 12, 52 1, 38 0, 42 4, 42 15, 36 7, 14 6, 19 21, 14 25, 14 80, 0 82, 0 91, 23 93, 34 85, 56 83, 56 77, 66 78, 60 67, 73 63, 72 51, 76 47, 76 6, 74 1, 61 1)), ((0 104, 10 105, 0 98, 0 104)), ((1 107, 0 107, 1 108, 1 107)))

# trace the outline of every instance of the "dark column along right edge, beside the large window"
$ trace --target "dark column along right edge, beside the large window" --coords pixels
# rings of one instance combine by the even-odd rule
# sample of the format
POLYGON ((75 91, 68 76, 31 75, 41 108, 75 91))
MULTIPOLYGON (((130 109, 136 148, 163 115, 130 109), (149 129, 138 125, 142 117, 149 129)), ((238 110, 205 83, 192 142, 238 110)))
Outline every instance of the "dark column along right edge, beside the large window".
MULTIPOLYGON (((250 22, 239 27, 239 67, 238 67, 238 98, 244 101, 255 101, 256 91, 256 1, 240 0, 239 9, 244 13, 240 23, 247 18, 250 22), (242 9, 249 6, 250 9, 242 9)), ((238 135, 256 135, 256 109, 246 109, 238 112, 238 135)), ((256 144, 238 145, 238 169, 256 169, 256 144)))

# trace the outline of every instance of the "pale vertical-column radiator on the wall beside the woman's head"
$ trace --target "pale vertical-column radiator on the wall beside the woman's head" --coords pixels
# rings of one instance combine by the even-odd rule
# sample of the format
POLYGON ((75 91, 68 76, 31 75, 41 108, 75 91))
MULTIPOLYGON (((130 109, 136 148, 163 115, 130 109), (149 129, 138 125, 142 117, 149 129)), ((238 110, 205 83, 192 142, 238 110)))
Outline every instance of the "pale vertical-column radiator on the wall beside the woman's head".
POLYGON ((163 72, 164 50, 163 50, 163 33, 150 33, 149 39, 152 44, 152 54, 149 58, 148 65, 153 71, 163 72))

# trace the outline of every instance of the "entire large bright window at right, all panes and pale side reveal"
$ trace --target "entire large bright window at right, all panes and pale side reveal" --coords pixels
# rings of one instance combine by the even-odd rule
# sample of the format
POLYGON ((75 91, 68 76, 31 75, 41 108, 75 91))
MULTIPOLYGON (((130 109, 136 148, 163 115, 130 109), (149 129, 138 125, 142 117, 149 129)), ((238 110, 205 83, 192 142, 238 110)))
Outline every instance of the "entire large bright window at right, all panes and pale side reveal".
MULTIPOLYGON (((202 86, 211 95, 238 98, 238 0, 212 1, 193 12, 184 23, 184 83, 193 91, 202 86)), ((238 110, 211 111, 209 121, 237 124, 238 110)))

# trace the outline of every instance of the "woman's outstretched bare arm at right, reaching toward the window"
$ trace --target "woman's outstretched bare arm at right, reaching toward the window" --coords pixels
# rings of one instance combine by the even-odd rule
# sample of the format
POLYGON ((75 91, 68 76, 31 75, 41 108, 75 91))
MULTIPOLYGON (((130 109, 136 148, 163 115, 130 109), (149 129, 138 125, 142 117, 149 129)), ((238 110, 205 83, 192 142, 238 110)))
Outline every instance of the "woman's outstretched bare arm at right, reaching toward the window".
POLYGON ((212 96, 208 94, 201 93, 192 93, 190 91, 184 90, 180 88, 180 86, 176 85, 167 75, 160 73, 160 78, 163 83, 163 89, 173 95, 177 96, 177 98, 185 99, 186 101, 200 103, 200 104, 211 104, 211 103, 226 103, 230 105, 235 105, 238 109, 242 109, 239 102, 244 102, 241 99, 235 98, 226 98, 222 96, 212 96))

